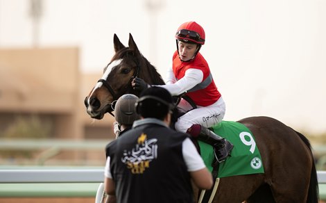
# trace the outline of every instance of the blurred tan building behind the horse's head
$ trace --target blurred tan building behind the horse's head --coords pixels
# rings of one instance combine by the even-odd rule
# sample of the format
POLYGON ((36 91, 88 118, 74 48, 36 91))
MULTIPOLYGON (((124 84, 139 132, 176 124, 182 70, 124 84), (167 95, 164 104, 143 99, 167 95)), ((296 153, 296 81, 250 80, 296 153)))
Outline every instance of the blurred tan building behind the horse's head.
POLYGON ((50 124, 49 138, 114 138, 113 117, 94 121, 83 103, 100 77, 80 72, 77 47, 0 49, 0 137, 34 116, 50 124))

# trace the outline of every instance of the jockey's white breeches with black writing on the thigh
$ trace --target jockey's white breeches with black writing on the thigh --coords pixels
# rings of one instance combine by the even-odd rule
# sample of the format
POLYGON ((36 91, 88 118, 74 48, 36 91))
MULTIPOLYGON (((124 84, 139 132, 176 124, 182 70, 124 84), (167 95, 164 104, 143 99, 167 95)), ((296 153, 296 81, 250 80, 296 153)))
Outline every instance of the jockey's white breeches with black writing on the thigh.
POLYGON ((207 128, 212 127, 221 122, 225 115, 225 103, 222 97, 210 106, 197 106, 194 110, 191 110, 191 105, 185 99, 181 99, 178 108, 182 112, 188 111, 179 117, 178 122, 175 123, 175 130, 184 133, 193 124, 200 124, 207 128))

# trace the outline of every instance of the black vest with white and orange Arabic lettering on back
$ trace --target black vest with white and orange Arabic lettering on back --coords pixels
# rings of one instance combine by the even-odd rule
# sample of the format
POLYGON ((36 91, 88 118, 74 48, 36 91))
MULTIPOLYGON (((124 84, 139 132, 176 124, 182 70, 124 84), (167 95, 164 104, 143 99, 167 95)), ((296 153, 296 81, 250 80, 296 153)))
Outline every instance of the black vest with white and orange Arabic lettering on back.
POLYGON ((117 202, 194 202, 182 156, 187 134, 143 124, 108 144, 117 202))

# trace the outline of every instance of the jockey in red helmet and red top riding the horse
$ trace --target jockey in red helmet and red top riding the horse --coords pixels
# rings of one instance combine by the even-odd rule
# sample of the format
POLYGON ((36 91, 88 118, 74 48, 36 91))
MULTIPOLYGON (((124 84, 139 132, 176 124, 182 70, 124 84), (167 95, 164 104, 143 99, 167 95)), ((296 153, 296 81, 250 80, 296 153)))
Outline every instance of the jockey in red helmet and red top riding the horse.
MULTIPOLYGON (((205 44, 205 31, 196 22, 185 22, 179 26, 175 39, 177 50, 173 54, 173 65, 167 72, 166 85, 162 87, 173 96, 185 93, 196 104, 193 109, 185 99, 181 99, 178 107, 185 114, 178 118, 175 129, 209 143, 214 147, 217 161, 224 161, 233 145, 209 130, 222 121, 225 103, 205 58, 199 53, 205 44)), ((132 81, 132 86, 135 90, 148 88, 148 84, 139 78, 132 81)))

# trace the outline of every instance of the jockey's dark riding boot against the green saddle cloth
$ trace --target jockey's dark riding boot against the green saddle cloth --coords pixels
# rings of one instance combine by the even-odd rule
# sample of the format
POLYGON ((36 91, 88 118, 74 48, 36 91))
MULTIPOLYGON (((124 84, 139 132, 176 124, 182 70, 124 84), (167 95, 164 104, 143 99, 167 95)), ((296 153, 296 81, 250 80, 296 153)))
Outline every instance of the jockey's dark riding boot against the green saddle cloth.
POLYGON ((212 145, 214 147, 214 154, 218 163, 225 161, 233 149, 232 143, 230 143, 228 140, 225 140, 225 138, 221 138, 220 136, 216 135, 216 133, 207 129, 206 127, 201 126, 200 124, 192 125, 187 132, 194 138, 198 138, 198 140, 212 145), (198 128, 200 128, 199 131, 198 128))

